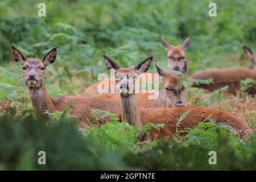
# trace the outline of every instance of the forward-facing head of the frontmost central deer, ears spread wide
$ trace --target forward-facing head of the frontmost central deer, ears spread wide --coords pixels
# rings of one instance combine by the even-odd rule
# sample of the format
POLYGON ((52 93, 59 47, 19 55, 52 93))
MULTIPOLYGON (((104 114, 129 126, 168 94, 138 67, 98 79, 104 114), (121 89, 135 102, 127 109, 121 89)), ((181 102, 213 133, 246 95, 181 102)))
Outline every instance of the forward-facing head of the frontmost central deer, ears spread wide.
POLYGON ((121 96, 129 96, 135 93, 135 80, 141 73, 144 73, 150 67, 153 57, 148 57, 142 63, 138 64, 135 68, 120 68, 108 56, 103 55, 106 66, 109 71, 114 70, 117 92, 121 96))

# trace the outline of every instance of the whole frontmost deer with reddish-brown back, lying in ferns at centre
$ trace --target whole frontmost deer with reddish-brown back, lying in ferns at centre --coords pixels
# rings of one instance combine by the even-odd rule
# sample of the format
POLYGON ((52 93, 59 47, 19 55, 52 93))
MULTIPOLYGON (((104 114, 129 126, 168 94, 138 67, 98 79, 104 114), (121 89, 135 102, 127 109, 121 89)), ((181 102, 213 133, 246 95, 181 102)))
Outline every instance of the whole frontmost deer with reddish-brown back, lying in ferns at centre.
MULTIPOLYGON (((115 69, 116 65, 107 56, 104 57, 106 65, 109 70, 115 69)), ((141 127, 146 123, 163 123, 165 126, 160 131, 152 130, 150 138, 168 137, 174 134, 176 131, 177 119, 185 111, 191 110, 186 118, 183 119, 178 131, 184 130, 185 128, 193 128, 201 121, 206 120, 210 117, 217 123, 225 123, 226 125, 232 126, 237 131, 247 131, 249 127, 246 122, 242 119, 234 117, 227 111, 214 110, 205 107, 174 107, 174 108, 147 108, 142 109, 138 106, 137 96, 135 94, 135 89, 133 82, 138 77, 139 74, 144 73, 150 67, 152 57, 149 57, 143 61, 140 66, 135 68, 119 68, 115 69, 116 82, 119 85, 119 93, 121 97, 121 109, 122 109, 122 121, 129 122, 130 125, 141 127), (130 82, 130 78, 133 81, 130 82)))

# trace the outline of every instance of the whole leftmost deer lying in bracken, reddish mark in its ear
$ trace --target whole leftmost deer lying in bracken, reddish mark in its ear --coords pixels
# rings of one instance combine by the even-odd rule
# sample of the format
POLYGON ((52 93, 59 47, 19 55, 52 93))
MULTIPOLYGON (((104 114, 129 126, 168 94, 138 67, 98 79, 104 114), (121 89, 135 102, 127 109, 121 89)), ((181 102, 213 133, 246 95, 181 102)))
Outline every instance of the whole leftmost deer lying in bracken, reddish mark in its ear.
POLYGON ((20 64, 23 69, 25 84, 28 87, 29 96, 32 102, 32 107, 36 115, 47 117, 44 113, 48 110, 50 113, 54 111, 63 111, 64 107, 74 104, 68 110, 69 114, 75 115, 80 121, 81 127, 86 127, 86 118, 91 122, 96 123, 92 117, 90 109, 101 109, 115 113, 121 118, 120 107, 121 102, 113 100, 109 96, 95 96, 90 98, 76 96, 60 96, 51 98, 47 94, 46 85, 44 84, 44 72, 48 65, 54 63, 57 55, 57 49, 53 48, 49 51, 42 60, 27 59, 18 49, 11 46, 13 59, 20 64))

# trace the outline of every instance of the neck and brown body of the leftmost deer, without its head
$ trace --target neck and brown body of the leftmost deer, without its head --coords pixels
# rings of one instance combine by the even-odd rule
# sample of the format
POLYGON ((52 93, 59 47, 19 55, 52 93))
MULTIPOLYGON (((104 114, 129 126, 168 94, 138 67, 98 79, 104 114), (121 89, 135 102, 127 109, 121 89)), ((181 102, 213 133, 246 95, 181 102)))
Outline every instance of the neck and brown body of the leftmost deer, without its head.
MULTIPOLYGON (((45 116, 46 110, 49 113, 55 111, 63 111, 63 109, 69 105, 72 105, 72 108, 68 110, 69 114, 74 115, 79 121, 81 127, 87 127, 86 119, 89 119, 90 122, 96 124, 98 121, 92 116, 91 109, 100 109, 104 111, 110 111, 111 113, 117 114, 121 119, 120 107, 121 102, 115 101, 112 98, 104 96, 95 96, 90 98, 85 97, 76 97, 76 96, 60 96, 57 98, 49 97, 45 88, 45 85, 42 89, 29 89, 30 99, 32 102, 32 107, 36 115, 42 117, 45 116)), ((108 118, 106 118, 108 121, 108 118)), ((98 124, 102 124, 105 121, 100 121, 98 124)))

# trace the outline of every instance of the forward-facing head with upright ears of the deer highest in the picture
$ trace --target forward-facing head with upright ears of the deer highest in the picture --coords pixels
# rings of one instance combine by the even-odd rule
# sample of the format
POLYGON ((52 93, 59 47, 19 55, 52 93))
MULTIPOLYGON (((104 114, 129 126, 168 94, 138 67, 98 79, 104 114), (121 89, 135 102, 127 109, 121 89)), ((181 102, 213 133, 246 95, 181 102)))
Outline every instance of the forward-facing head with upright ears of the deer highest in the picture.
POLYGON ((191 37, 189 36, 187 39, 185 39, 180 46, 172 46, 171 44, 167 43, 166 40, 164 40, 161 36, 159 36, 159 39, 167 51, 168 69, 185 73, 184 67, 186 67, 185 69, 187 70, 185 50, 189 45, 191 37))

